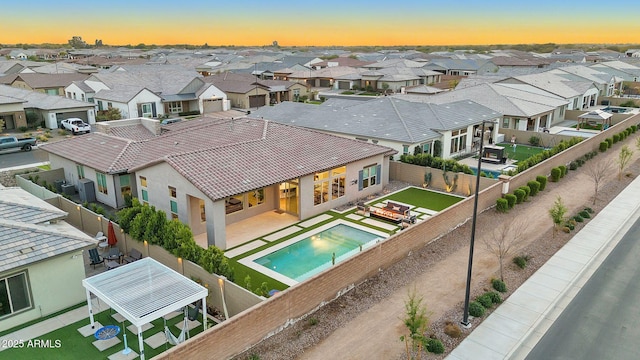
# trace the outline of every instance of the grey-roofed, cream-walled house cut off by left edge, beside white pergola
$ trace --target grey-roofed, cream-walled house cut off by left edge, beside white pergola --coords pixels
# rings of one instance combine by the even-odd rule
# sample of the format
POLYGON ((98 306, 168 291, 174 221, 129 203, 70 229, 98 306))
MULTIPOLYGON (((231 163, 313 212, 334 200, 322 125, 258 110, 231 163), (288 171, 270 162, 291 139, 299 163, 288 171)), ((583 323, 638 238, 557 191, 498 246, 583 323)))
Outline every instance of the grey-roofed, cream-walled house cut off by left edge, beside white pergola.
POLYGON ((0 186, 0 331, 86 299, 82 251, 97 241, 66 216, 22 189, 0 186))

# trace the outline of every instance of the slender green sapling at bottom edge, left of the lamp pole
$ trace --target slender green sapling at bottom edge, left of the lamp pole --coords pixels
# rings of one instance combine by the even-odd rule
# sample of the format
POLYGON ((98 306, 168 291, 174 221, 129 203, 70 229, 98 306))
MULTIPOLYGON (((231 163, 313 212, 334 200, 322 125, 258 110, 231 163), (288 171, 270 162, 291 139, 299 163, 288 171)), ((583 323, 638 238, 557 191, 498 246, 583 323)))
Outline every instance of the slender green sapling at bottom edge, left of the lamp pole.
POLYGON ((407 351, 407 359, 413 359, 413 351, 416 351, 416 359, 420 359, 422 352, 422 344, 425 340, 424 333, 429 325, 429 315, 426 306, 422 305, 422 296, 416 294, 415 287, 409 290, 407 300, 404 302, 405 317, 402 319, 404 326, 407 327, 409 335, 400 337, 400 341, 404 341, 407 351), (409 349, 411 343, 411 349, 409 349))

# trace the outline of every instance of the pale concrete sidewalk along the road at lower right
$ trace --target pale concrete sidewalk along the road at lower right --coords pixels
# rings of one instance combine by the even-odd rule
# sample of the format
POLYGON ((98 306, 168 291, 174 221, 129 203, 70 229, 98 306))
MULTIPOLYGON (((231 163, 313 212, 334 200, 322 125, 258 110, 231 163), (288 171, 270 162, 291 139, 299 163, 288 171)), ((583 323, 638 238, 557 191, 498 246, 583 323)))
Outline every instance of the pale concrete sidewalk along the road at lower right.
POLYGON ((524 359, 640 217, 634 180, 447 357, 524 359))

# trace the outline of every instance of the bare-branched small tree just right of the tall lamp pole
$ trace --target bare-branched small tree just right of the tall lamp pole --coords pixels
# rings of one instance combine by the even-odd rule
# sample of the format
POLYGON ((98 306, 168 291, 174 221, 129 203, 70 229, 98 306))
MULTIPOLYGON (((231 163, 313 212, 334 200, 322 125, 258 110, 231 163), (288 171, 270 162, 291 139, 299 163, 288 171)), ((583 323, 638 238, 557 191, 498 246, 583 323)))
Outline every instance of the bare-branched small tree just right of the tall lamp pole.
POLYGON ((512 222, 505 221, 493 231, 493 236, 483 239, 487 250, 498 258, 500 280, 504 280, 504 259, 522 243, 527 227, 528 223, 522 219, 516 219, 512 222))

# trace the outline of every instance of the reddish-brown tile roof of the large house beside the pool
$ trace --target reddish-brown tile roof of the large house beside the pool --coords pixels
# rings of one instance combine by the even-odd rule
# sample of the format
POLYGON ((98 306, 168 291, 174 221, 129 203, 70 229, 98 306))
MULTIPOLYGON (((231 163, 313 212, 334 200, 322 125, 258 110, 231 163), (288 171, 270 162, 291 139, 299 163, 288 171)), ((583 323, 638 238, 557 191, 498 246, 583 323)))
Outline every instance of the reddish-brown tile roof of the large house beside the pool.
MULTIPOLYGON (((127 121, 127 126, 139 125, 127 121)), ((144 140, 94 132, 41 148, 109 174, 164 162, 214 200, 395 153, 384 146, 363 146, 356 140, 253 118, 199 118, 162 129, 144 140), (84 155, 89 152, 94 156, 84 155)), ((118 131, 127 136, 125 130, 118 131)))

